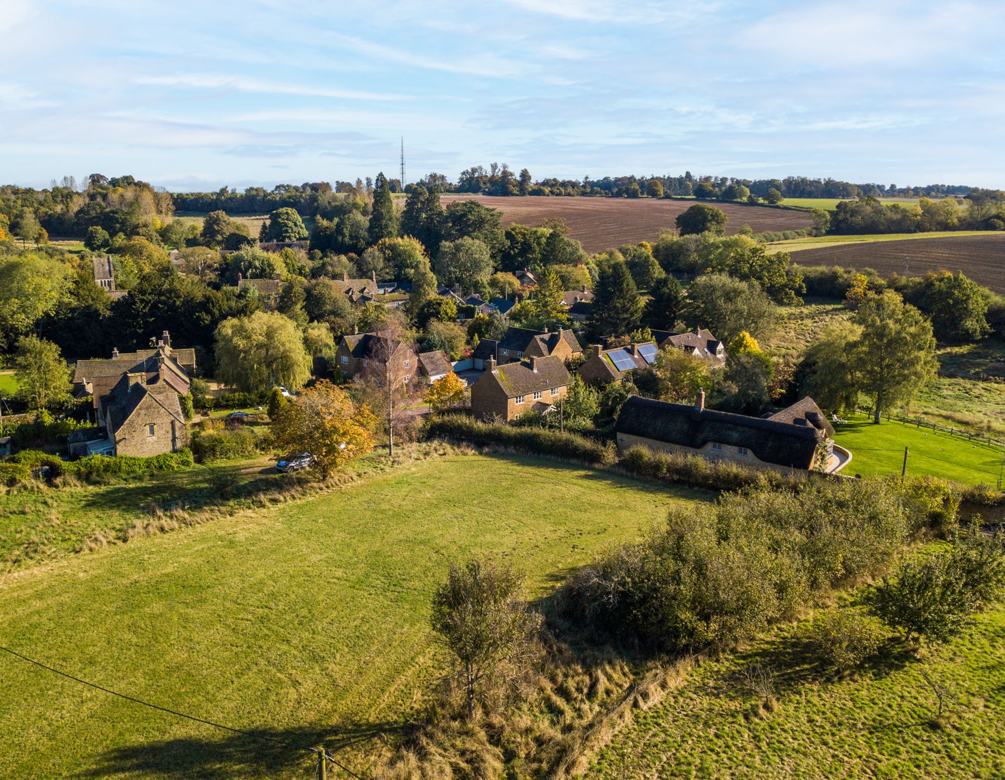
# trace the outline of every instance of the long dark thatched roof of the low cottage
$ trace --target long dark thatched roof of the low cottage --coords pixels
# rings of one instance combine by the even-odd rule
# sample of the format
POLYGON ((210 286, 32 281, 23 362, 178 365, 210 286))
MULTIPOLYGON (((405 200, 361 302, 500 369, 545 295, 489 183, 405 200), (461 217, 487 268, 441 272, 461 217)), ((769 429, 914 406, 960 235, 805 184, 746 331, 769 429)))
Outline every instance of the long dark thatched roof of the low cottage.
POLYGON ((775 465, 809 468, 824 434, 811 425, 748 417, 630 396, 614 429, 641 438, 698 449, 709 442, 746 447, 775 465))

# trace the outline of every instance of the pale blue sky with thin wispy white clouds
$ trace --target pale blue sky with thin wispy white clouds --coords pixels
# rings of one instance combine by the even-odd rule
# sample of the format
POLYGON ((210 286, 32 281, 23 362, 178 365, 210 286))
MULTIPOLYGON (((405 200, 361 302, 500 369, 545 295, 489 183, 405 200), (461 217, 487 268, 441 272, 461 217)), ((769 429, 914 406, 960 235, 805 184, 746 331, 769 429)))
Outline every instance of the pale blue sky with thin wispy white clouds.
POLYGON ((1005 186, 1005 4, 3 0, 0 183, 1005 186))

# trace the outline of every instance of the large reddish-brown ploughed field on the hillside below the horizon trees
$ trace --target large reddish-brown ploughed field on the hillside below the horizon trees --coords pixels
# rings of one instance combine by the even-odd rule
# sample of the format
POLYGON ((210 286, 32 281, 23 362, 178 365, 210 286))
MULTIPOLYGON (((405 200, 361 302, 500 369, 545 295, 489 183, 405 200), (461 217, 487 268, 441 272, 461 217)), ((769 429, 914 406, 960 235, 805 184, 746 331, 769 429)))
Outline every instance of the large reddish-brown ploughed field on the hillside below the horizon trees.
MULTIPOLYGON (((599 252, 624 244, 652 241, 663 228, 676 226, 674 220, 693 206, 692 200, 657 200, 650 198, 564 198, 495 197, 485 195, 444 195, 443 205, 455 200, 476 200, 502 212, 502 224, 537 227, 545 219, 564 219, 573 238, 579 239, 588 252, 599 252)), ((726 212, 726 232, 736 233, 750 225, 755 233, 766 230, 798 230, 812 227, 809 214, 761 206, 712 203, 726 212)))

